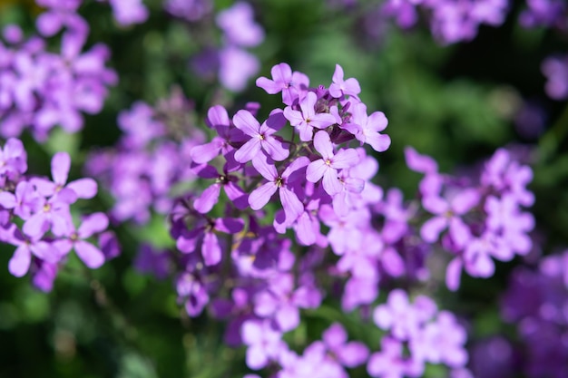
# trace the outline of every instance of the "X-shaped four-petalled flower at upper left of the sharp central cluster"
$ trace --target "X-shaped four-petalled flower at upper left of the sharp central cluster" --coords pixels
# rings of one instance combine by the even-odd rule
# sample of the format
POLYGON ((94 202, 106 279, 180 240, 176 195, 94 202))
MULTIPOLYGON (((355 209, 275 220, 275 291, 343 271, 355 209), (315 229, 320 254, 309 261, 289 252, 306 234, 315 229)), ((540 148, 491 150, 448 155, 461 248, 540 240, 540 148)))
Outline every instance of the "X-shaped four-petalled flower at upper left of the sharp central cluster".
POLYGON ((284 143, 272 135, 286 124, 281 111, 272 111, 262 125, 250 111, 237 111, 233 117, 233 123, 240 131, 251 137, 235 152, 235 160, 245 163, 257 156, 260 150, 264 150, 270 158, 276 161, 289 157, 289 150, 284 147, 284 143))

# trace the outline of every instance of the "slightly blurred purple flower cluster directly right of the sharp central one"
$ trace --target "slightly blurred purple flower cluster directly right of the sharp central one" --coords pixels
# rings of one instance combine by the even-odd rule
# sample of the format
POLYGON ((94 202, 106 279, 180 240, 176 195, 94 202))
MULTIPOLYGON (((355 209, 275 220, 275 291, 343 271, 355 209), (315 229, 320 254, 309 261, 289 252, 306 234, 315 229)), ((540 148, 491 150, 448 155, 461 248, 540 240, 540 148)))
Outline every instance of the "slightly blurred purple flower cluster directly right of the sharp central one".
POLYGON ((476 180, 441 175, 436 161, 411 148, 406 149, 406 162, 425 175, 421 203, 432 218, 422 225, 420 236, 427 243, 441 241, 454 255, 446 271, 450 289, 459 286, 462 269, 470 276, 493 276, 492 257, 509 261, 530 252, 534 217, 523 208, 534 203, 526 188, 533 172, 511 152, 497 150, 476 180))

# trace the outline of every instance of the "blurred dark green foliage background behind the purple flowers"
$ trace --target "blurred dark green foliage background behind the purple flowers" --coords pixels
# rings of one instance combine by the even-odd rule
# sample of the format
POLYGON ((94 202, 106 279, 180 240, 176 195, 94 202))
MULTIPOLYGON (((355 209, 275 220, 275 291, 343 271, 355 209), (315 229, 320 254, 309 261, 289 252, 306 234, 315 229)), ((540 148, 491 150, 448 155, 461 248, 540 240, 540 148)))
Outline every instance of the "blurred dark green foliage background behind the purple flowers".
MULTIPOLYGON (((378 184, 399 187, 406 198, 415 196, 420 177, 406 168, 406 145, 434 157, 447 172, 469 170, 497 148, 508 146, 519 150, 534 169, 534 237, 540 245, 523 263, 565 247, 568 107, 547 97, 541 71, 546 56, 566 52, 565 35, 523 28, 518 16, 525 3, 518 0, 511 3, 500 27, 482 25, 471 42, 441 45, 424 20, 402 30, 381 19, 376 12, 380 3, 250 1, 266 34, 250 49, 260 61, 260 71, 242 91, 233 92, 220 85, 215 72, 195 70, 196 57, 222 44, 214 15, 232 1, 215 1, 210 14, 189 22, 166 12, 162 1, 147 0, 148 20, 122 26, 109 6, 85 0, 80 13, 91 25, 87 44, 110 47, 110 65, 120 80, 103 111, 85 116, 82 132, 54 131, 45 145, 24 135, 29 171, 48 175, 48 157, 67 150, 73 156, 73 174, 81 175, 89 151, 113 146, 120 137, 119 111, 140 100, 157 104, 176 86, 191 102, 187 127, 203 128, 204 114, 213 104, 221 103, 232 113, 246 102, 260 102, 260 118, 281 106, 279 96, 254 85, 256 77, 269 76, 274 64, 289 63, 293 70, 308 74, 311 86, 328 86, 339 63, 346 78, 360 83, 367 110, 384 111, 389 121, 386 132, 392 145, 377 157, 378 184)), ((32 0, 0 0, 0 26, 19 24, 26 35, 34 34, 34 19, 41 12, 32 0)), ((57 51, 57 37, 50 44, 57 51)), ((105 210, 110 205, 101 195, 88 206, 105 210)), ((244 349, 223 345, 222 324, 206 313, 189 318, 176 303, 170 279, 144 275, 133 267, 142 242, 171 245, 163 219, 154 217, 143 227, 124 224, 117 234, 120 257, 94 271, 75 257, 48 294, 34 289, 28 277, 11 276, 6 267, 14 248, 0 246, 0 377, 209 378, 249 372, 244 349)), ((469 322, 471 346, 488 343, 495 335, 515 342, 514 325, 500 319, 498 300, 519 263, 498 263, 497 274, 490 279, 465 277, 457 293, 436 288, 440 306, 469 322)), ((339 320, 352 337, 377 347, 373 334, 358 326, 357 316, 334 308, 338 304, 329 301, 304 313, 305 322, 289 338, 306 344, 331 320, 339 320)), ((438 374, 432 367, 426 377, 438 374)), ((365 369, 353 376, 366 376, 365 369)))

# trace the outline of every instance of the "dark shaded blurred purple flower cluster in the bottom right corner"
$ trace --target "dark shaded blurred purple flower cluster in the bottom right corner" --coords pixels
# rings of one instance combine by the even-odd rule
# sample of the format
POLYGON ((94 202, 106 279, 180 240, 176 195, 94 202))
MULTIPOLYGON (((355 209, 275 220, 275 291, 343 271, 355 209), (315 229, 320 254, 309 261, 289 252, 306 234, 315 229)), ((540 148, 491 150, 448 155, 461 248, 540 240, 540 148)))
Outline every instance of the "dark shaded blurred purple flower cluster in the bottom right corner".
POLYGON ((537 269, 517 267, 501 305, 517 325, 528 377, 566 376, 568 361, 568 252, 544 257, 537 269))

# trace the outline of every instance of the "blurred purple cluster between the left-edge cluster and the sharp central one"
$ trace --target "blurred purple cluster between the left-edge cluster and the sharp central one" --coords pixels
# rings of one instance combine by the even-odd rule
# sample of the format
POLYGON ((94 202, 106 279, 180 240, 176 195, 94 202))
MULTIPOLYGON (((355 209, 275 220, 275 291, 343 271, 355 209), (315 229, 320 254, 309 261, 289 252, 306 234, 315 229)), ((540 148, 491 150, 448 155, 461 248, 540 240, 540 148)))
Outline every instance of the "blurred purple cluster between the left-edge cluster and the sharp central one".
POLYGON ((86 171, 113 195, 111 215, 115 220, 133 219, 143 224, 152 209, 168 213, 172 189, 195 177, 189 166, 179 164, 190 158, 192 147, 204 138, 201 131, 191 128, 191 110, 191 103, 179 91, 172 92, 158 111, 136 102, 118 116, 123 132, 118 147, 95 151, 89 157, 86 171))

